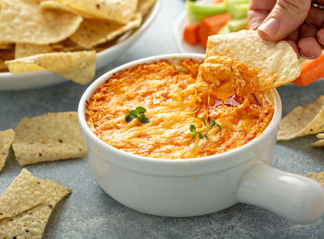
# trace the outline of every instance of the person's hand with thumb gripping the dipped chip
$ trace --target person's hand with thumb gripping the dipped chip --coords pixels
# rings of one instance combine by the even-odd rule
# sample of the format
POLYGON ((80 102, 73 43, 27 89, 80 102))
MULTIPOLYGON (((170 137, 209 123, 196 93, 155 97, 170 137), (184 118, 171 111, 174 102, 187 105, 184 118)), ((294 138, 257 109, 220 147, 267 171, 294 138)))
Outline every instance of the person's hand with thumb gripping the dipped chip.
MULTIPOLYGON (((324 0, 316 2, 324 5, 324 0)), ((264 40, 286 40, 298 57, 319 57, 324 44, 324 10, 311 3, 311 0, 251 0, 249 29, 258 29, 264 40)))

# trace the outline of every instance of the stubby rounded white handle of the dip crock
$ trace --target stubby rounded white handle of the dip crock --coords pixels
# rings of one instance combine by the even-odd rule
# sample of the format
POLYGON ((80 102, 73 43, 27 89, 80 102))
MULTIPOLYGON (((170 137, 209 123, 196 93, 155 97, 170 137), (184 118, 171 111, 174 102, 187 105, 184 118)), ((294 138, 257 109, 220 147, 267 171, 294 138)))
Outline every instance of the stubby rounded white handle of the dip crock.
POLYGON ((324 213, 324 187, 319 182, 263 162, 243 175, 236 197, 299 224, 314 223, 324 213))

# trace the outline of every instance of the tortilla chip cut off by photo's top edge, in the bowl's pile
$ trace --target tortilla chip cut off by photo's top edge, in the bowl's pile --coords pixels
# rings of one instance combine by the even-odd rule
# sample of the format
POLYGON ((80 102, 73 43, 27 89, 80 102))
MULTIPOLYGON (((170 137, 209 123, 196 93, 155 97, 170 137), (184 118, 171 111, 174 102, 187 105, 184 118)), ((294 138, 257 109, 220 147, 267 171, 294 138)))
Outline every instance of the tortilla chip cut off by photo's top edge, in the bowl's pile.
MULTIPOLYGON (((137 0, 55 0, 66 8, 72 8, 74 12, 88 18, 101 18, 114 20, 125 24, 132 18, 136 8, 137 0)), ((43 1, 42 1, 43 2, 43 1)), ((42 4, 42 3, 41 3, 42 4)))

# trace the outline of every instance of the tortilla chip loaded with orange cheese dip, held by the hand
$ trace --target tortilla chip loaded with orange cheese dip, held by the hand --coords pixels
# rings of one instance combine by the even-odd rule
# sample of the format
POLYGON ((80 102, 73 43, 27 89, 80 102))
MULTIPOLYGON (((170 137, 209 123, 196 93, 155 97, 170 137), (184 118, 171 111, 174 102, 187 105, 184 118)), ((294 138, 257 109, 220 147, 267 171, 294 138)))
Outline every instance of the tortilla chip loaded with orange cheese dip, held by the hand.
MULTIPOLYGON (((208 75, 218 70, 229 72, 228 76, 221 76, 221 81, 213 80, 222 100, 226 100, 226 94, 273 89, 294 81, 300 74, 297 54, 288 42, 269 42, 251 30, 208 38, 206 61, 200 71, 208 81, 208 75)), ((217 74, 216 78, 219 78, 220 73, 217 74)))

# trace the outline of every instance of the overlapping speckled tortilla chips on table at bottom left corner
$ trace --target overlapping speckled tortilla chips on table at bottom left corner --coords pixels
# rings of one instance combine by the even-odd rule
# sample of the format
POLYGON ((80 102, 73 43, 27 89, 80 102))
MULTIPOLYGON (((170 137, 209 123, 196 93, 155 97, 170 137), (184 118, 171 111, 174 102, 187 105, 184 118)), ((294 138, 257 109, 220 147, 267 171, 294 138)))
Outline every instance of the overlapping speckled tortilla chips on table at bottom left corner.
POLYGON ((56 203, 69 193, 23 169, 0 196, 0 238, 42 238, 56 203))

